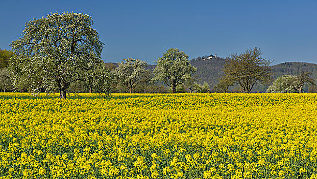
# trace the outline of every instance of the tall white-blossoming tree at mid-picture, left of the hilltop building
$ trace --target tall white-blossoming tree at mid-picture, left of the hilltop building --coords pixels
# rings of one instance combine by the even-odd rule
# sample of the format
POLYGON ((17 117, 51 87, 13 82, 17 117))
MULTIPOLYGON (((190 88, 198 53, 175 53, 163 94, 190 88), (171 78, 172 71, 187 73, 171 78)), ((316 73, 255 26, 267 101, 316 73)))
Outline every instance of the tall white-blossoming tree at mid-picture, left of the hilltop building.
POLYGON ((197 69, 188 61, 188 55, 178 49, 169 49, 157 60, 154 79, 163 81, 176 93, 176 87, 196 73, 197 69))

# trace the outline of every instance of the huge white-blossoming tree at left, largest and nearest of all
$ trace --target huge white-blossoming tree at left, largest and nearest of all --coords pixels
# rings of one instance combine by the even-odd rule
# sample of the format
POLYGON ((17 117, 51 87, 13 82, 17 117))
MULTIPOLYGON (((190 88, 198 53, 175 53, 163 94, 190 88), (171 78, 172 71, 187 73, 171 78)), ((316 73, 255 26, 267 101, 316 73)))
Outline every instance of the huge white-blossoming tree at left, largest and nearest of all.
POLYGON ((100 64, 103 43, 89 15, 51 13, 26 23, 22 37, 11 43, 13 82, 31 91, 59 91, 66 98, 72 82, 83 79, 89 64, 100 64))

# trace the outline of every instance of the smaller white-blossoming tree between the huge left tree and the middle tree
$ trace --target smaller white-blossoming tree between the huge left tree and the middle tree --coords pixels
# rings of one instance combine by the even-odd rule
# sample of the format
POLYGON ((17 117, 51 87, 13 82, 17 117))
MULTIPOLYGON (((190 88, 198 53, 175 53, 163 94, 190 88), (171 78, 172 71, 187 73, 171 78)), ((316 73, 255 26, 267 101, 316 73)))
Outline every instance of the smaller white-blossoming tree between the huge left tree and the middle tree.
POLYGON ((147 73, 148 70, 145 69, 147 65, 147 62, 140 59, 124 59, 118 64, 114 74, 118 82, 128 88, 129 93, 132 93, 133 89, 141 82, 142 77, 147 73))

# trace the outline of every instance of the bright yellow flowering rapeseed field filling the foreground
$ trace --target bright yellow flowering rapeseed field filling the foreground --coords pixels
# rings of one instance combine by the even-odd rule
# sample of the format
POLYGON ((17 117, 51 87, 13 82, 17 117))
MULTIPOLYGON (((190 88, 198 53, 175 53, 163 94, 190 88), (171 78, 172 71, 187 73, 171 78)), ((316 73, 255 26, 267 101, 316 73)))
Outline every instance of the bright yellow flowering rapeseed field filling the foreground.
POLYGON ((0 178, 317 178, 316 94, 0 94, 0 178))

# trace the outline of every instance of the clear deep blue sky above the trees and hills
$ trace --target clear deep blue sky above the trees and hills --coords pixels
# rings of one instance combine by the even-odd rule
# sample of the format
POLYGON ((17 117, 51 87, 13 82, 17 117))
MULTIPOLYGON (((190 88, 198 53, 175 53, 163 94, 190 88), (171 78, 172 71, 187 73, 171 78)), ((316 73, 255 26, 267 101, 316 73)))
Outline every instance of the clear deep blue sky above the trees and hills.
POLYGON ((2 0, 0 6, 1 49, 11 49, 27 21, 74 11, 92 16, 106 62, 131 57, 154 63, 169 48, 191 59, 260 47, 273 64, 317 63, 317 1, 2 0))

